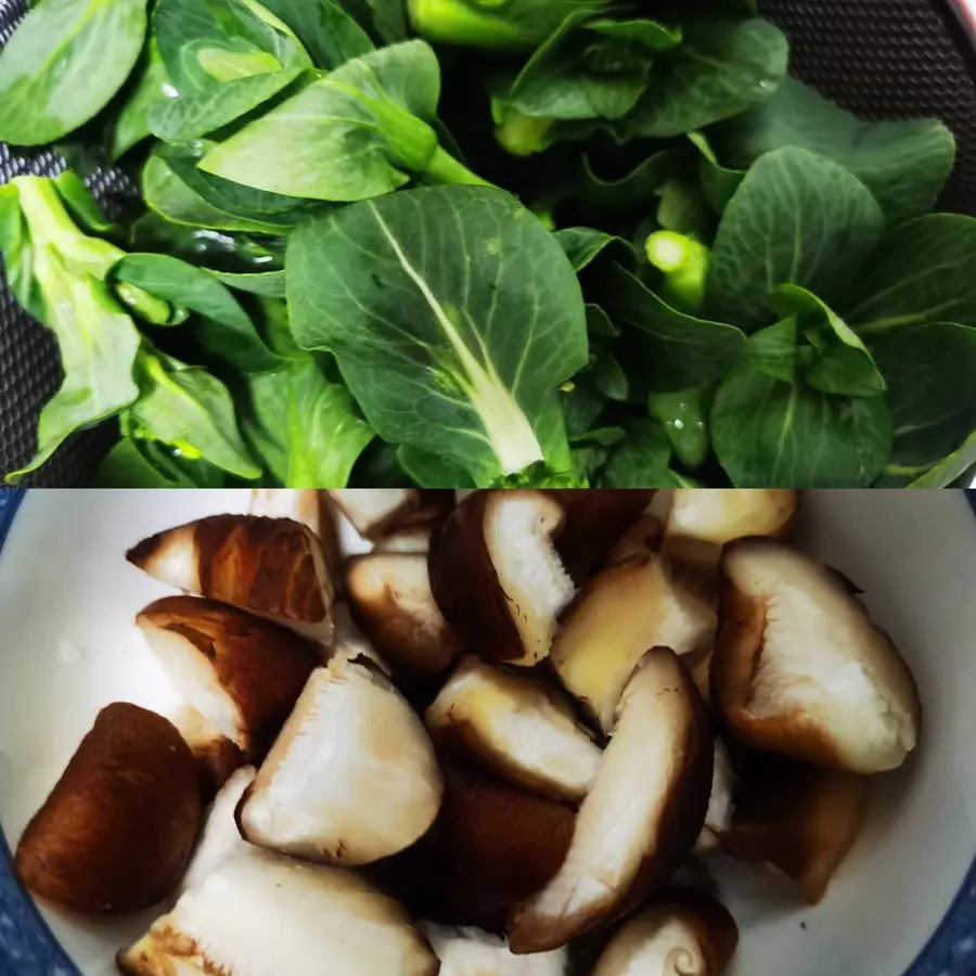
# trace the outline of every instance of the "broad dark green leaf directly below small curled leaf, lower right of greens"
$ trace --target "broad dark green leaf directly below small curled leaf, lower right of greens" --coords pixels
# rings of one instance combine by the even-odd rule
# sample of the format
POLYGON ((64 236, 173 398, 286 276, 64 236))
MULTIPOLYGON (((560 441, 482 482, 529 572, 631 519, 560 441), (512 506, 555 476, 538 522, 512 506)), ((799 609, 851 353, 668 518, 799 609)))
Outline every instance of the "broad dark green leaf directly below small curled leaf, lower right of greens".
POLYGON ((891 450, 884 397, 837 397, 750 365, 719 386, 711 441, 736 488, 866 488, 891 450))

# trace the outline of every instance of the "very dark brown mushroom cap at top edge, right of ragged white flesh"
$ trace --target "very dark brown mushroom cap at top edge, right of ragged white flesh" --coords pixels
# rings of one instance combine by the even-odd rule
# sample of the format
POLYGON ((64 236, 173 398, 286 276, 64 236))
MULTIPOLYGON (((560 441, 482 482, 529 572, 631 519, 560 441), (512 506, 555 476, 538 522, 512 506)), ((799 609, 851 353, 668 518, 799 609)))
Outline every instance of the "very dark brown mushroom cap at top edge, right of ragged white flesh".
POLYGON ((560 558, 577 583, 603 563, 614 544, 651 504, 654 489, 558 488, 551 493, 566 512, 560 558))

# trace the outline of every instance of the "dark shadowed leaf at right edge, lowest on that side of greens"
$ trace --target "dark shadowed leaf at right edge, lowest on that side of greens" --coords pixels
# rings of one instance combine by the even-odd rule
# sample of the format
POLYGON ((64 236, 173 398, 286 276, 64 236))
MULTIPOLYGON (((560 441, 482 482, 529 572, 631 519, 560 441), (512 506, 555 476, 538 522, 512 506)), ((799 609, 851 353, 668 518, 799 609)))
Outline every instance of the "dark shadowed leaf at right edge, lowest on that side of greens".
POLYGON ((976 429, 976 329, 917 325, 881 336, 871 351, 888 384, 892 464, 924 471, 976 429))

